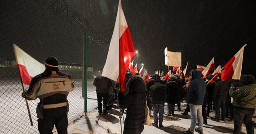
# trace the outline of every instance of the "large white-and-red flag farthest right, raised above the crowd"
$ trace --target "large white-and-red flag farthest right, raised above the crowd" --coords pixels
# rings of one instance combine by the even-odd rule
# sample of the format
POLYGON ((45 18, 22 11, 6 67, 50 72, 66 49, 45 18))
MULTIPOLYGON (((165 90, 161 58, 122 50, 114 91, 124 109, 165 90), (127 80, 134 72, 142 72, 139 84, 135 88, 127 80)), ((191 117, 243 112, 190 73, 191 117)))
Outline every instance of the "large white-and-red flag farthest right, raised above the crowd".
POLYGON ((221 73, 221 80, 240 80, 243 64, 243 49, 245 44, 228 63, 223 67, 225 70, 221 73))

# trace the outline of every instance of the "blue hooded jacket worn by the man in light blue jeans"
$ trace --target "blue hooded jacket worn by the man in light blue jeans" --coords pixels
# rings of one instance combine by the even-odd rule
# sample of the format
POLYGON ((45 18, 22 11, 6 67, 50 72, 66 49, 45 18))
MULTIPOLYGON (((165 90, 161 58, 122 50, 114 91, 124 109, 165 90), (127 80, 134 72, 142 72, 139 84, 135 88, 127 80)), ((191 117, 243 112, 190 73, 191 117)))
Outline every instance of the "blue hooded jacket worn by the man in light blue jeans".
POLYGON ((202 71, 196 69, 192 71, 192 80, 188 89, 187 103, 193 105, 203 105, 206 93, 206 83, 202 79, 202 71))

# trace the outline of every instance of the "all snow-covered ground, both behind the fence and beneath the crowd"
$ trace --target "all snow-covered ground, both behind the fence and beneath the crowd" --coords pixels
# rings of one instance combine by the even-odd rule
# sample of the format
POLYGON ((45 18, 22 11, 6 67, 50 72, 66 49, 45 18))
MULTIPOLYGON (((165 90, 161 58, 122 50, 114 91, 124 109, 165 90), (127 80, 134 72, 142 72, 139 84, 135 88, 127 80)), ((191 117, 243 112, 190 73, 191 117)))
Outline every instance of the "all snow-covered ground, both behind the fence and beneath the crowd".
MULTIPOLYGON (((122 124, 119 121, 119 112, 116 105, 109 111, 109 114, 103 115, 98 124, 97 96, 95 87, 92 85, 93 80, 88 80, 88 99, 87 108, 88 116, 84 115, 84 98, 82 96, 81 80, 74 80, 75 90, 70 92, 68 96, 70 111, 68 126, 68 134, 122 134, 124 130, 124 118, 121 117, 122 124), (79 117, 79 115, 81 117, 79 117)), ((22 88, 19 80, 2 80, 0 81, 0 134, 38 134, 37 118, 35 114, 36 103, 39 100, 28 101, 31 109, 33 126, 30 126, 28 119, 25 100, 21 97, 22 88)), ((25 87, 28 88, 28 87, 25 87)), ((167 105, 167 104, 166 104, 167 105)), ((181 109, 185 109, 185 103, 181 103, 181 109)), ((167 112, 165 106, 164 112, 167 112)), ((190 127, 190 116, 181 115, 182 112, 176 111, 173 117, 164 117, 163 127, 156 128, 154 126, 146 126, 142 134, 181 134, 181 131, 187 130, 190 127)), ((190 113, 189 113, 190 114, 190 113)), ((210 117, 214 117, 212 111, 210 117)), ((153 121, 153 117, 151 117, 153 121)), ((256 121, 253 118, 253 121, 256 121)), ((256 122, 253 122, 256 128, 256 122)), ((208 118, 208 125, 203 127, 204 134, 232 134, 234 124, 232 121, 215 122, 208 118)), ((254 129, 256 132, 256 129, 254 129)), ((242 133, 246 134, 246 128, 243 125, 242 133)), ((55 132, 55 134, 57 134, 55 132)), ((197 132, 195 132, 197 134, 197 132)))

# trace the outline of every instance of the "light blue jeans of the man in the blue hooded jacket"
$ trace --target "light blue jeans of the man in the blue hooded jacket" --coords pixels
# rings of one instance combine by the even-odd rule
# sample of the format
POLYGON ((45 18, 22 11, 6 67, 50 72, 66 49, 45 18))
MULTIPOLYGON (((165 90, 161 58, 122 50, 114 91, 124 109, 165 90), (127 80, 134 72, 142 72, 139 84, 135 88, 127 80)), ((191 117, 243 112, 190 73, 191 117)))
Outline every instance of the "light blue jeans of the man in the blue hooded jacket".
POLYGON ((202 115, 202 105, 190 105, 190 131, 194 132, 196 121, 198 119, 198 129, 203 130, 203 115, 202 115))

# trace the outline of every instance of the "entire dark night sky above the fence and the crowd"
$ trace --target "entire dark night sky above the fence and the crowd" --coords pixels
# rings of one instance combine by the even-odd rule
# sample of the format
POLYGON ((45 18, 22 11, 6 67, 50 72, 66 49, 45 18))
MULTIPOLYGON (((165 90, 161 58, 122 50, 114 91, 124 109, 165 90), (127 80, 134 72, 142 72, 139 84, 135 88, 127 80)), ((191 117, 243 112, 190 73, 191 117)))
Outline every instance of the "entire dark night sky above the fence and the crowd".
MULTIPOLYGON (((65 1, 110 42, 119 0, 65 1)), ((1 0, 0 6, 0 63, 15 59, 13 43, 41 63, 49 55, 62 63, 83 63, 84 33, 60 13, 36 0, 1 0)), ((138 51, 133 63, 138 69, 143 63, 149 75, 168 72, 166 47, 181 52, 182 68, 189 61, 190 71, 213 57, 215 68, 223 67, 247 44, 242 73, 256 76, 255 0, 122 0, 122 7, 138 51)), ((94 71, 103 69, 107 52, 88 39, 88 65, 94 71)))

